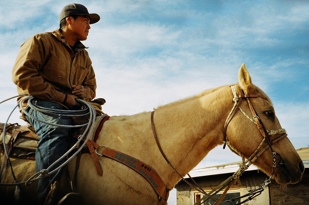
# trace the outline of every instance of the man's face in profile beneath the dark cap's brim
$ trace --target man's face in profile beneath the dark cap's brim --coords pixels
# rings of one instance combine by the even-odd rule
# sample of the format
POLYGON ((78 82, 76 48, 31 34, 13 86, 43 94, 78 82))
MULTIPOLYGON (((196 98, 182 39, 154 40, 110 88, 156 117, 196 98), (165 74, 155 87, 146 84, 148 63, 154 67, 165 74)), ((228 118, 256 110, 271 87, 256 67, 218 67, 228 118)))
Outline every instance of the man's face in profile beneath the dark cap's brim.
POLYGON ((86 40, 90 29, 90 20, 88 16, 78 16, 76 19, 71 18, 71 31, 76 40, 86 40))

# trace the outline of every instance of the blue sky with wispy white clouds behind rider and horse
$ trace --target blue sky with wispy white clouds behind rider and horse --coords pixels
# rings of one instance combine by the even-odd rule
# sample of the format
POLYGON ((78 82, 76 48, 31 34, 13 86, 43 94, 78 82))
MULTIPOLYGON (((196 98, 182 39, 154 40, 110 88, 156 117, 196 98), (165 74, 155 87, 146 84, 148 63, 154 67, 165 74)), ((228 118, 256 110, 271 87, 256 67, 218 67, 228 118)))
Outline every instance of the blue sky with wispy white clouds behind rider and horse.
MULTIPOLYGON (((59 28, 72 0, 0 2, 0 101, 17 95, 11 69, 29 37, 59 28)), ((295 149, 308 147, 309 1, 80 0, 101 19, 83 44, 108 115, 133 115, 237 83, 245 63, 271 98, 295 149)), ((6 122, 16 100, 0 104, 6 122)), ((8 122, 24 124, 14 111, 8 122)), ((218 146, 197 168, 240 161, 218 146)), ((168 200, 176 204, 176 191, 168 200)))

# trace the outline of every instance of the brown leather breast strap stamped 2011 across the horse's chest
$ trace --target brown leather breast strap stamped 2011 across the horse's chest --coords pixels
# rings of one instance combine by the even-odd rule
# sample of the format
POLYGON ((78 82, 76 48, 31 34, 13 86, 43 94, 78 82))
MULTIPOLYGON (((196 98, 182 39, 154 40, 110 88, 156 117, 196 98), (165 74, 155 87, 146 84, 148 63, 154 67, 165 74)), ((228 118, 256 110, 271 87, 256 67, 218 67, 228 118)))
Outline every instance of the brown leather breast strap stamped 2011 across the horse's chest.
POLYGON ((167 189, 155 169, 149 165, 146 165, 142 161, 135 159, 134 157, 131 157, 125 153, 118 152, 114 149, 109 149, 107 147, 104 147, 104 150, 101 154, 105 157, 111 158, 126 165, 127 167, 136 171, 138 174, 142 175, 159 195, 159 205, 165 204, 167 202, 170 190, 167 189))

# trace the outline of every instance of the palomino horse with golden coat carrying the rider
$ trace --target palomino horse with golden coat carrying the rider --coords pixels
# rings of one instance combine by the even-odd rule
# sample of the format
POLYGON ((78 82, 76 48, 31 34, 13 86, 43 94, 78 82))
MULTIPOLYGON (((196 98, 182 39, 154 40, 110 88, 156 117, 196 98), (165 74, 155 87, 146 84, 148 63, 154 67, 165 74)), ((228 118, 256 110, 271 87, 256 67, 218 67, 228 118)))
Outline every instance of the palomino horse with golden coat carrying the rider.
MULTIPOLYGON (((252 84, 251 77, 244 64, 235 85, 237 95, 244 94, 264 97, 250 98, 259 119, 267 130, 280 130, 281 125, 275 115, 270 99, 258 87, 252 84)), ((244 157, 248 158, 263 139, 260 130, 240 111, 225 129, 225 121, 234 105, 230 86, 205 90, 193 97, 160 106, 154 111, 154 126, 159 144, 171 165, 181 176, 185 176, 217 145, 226 138, 244 157)), ((247 114, 251 110, 246 100, 240 107, 247 114)), ((238 110, 238 109, 237 109, 238 110)), ((168 190, 173 189, 180 177, 171 169, 156 144, 152 131, 150 112, 132 116, 112 116, 105 123, 96 141, 99 145, 125 153, 149 165, 156 170, 168 190)), ((278 135, 271 136, 273 140, 278 135)), ((262 145, 266 145, 265 141, 262 145)), ((100 147, 99 149, 102 149, 100 147)), ((104 149, 104 148, 103 148, 104 149)), ((297 183, 302 177, 304 165, 298 153, 287 137, 272 144, 254 164, 267 175, 271 175, 280 184, 297 183), (281 166, 272 168, 272 152, 280 155, 281 166)), ((100 152, 100 151, 99 151, 100 152)), ((13 169, 19 181, 25 181, 34 174, 34 161, 12 159, 13 169)), ((82 154, 77 172, 77 190, 82 194, 85 204, 158 204, 159 197, 154 188, 140 174, 118 161, 99 156, 103 176, 99 176, 90 154, 82 154)), ((69 163, 74 173, 75 162, 69 163)), ((146 170, 146 168, 145 168, 146 170)), ((6 173, 2 183, 12 183, 10 173, 6 173)), ((1 195, 12 187, 1 186, 1 195)), ((35 197, 35 185, 21 186, 28 198, 35 197)), ((29 200, 29 199, 27 199, 29 200)))

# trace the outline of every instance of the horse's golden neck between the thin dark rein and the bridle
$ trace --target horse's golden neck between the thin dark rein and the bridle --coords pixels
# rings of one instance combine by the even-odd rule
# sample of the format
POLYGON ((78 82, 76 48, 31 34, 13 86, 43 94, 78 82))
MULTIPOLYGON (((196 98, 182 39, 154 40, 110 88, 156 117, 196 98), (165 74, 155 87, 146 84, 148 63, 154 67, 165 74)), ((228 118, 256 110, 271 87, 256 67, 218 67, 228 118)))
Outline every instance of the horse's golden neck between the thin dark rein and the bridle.
MULTIPOLYGON (((155 110, 159 142, 181 175, 187 174, 211 149, 222 144, 224 122, 233 104, 228 91, 228 87, 222 88, 155 110)), ((169 170, 169 177, 175 176, 169 170)))

